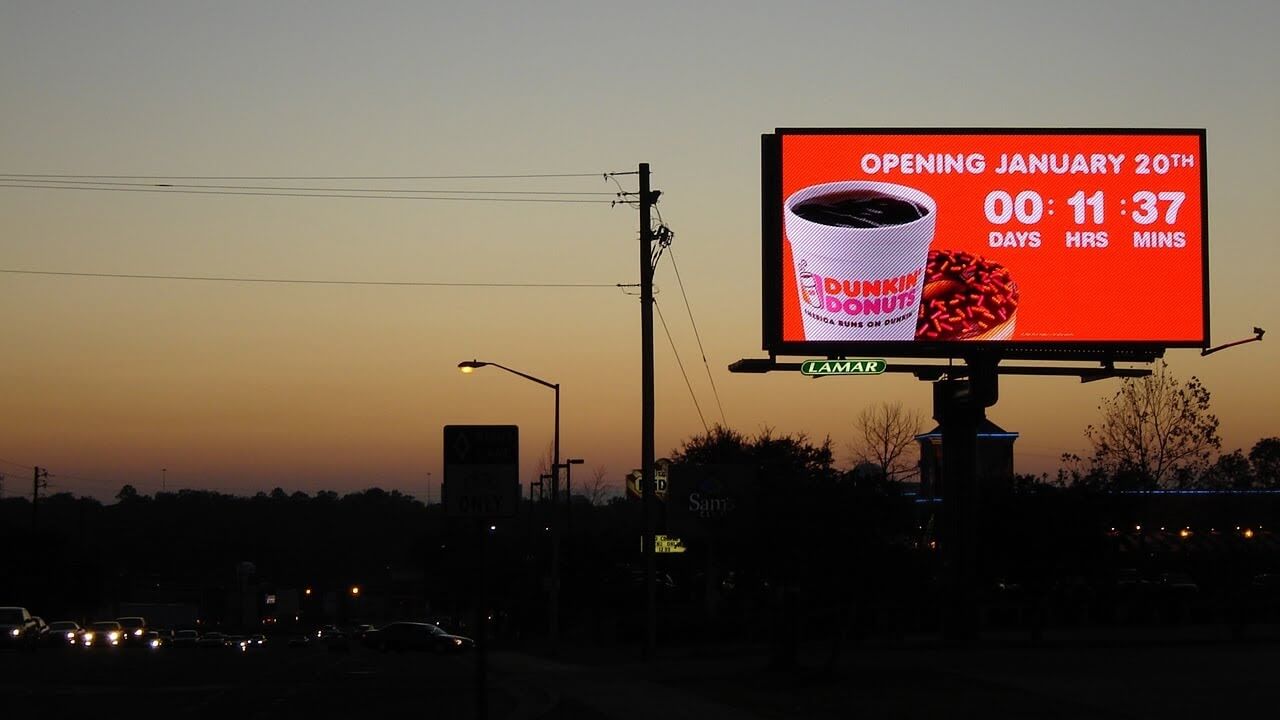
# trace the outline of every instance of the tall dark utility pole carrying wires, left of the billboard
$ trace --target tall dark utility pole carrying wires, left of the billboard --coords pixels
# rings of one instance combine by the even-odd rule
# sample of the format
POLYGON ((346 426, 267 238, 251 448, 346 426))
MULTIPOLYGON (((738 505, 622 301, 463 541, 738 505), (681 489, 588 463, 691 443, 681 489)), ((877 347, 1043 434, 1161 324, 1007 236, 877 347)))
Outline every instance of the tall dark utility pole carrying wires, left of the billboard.
POLYGON ((653 555, 653 219, 657 193, 649 191, 649 163, 640 163, 640 497, 644 514, 644 659, 652 661, 658 639, 653 555))

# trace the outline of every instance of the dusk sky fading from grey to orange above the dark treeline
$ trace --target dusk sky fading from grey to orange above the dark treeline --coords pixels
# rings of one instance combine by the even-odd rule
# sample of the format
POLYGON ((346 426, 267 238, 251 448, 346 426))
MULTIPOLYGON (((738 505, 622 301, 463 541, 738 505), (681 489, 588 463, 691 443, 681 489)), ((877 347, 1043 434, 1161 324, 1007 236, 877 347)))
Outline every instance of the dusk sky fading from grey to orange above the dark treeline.
MULTIPOLYGON (((0 173, 456 176, 650 163, 724 419, 831 436, 868 404, 929 410, 909 375, 732 375, 758 357, 759 136, 776 127, 1204 127, 1224 448, 1280 434, 1280 4, 0 4, 0 173)), ((634 178, 630 188, 635 190, 634 178)), ((348 181, 349 184, 351 181, 348 181)), ((321 183, 314 183, 321 184, 321 183)), ((372 183, 362 183, 370 186, 372 183)), ((611 191, 603 178, 411 186, 611 191)), ((634 283, 609 205, 0 188, 0 268, 366 281, 634 283)), ((669 259, 658 302, 721 419, 669 259)), ((445 424, 521 427, 618 484, 640 464, 639 301, 616 288, 230 284, 0 274, 0 473, 110 497, 369 486, 438 497, 445 424)), ((657 324, 657 448, 701 432, 657 324)), ((1117 380, 1006 378, 1016 470, 1084 452, 1117 380)))

